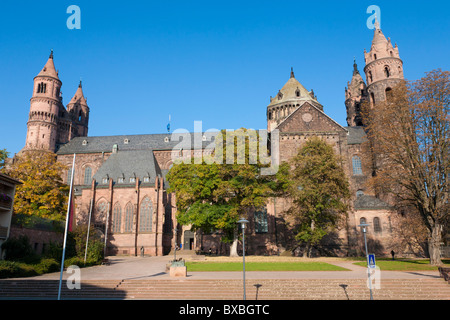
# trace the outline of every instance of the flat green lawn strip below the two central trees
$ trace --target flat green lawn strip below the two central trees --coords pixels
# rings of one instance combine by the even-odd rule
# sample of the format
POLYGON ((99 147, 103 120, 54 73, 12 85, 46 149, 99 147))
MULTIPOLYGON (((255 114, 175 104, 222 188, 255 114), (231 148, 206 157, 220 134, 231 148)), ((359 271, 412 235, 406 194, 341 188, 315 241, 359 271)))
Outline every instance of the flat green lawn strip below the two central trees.
MULTIPOLYGON (((186 261, 189 271, 242 271, 242 262, 186 261)), ((246 262, 246 271, 348 271, 326 262, 246 262)))

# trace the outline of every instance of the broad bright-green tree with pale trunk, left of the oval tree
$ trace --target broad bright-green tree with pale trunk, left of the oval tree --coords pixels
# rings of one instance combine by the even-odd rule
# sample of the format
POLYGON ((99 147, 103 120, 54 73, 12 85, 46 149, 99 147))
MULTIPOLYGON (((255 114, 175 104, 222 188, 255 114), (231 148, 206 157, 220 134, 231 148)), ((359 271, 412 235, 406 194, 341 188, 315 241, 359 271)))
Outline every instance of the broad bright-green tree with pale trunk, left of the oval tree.
POLYGON ((178 223, 204 232, 222 230, 222 241, 232 242, 232 256, 237 255, 237 221, 265 206, 280 188, 275 176, 261 174, 268 165, 256 157, 258 138, 249 138, 250 134, 246 129, 222 131, 216 137, 216 161, 175 163, 167 175, 169 192, 176 195, 178 223), (238 143, 241 138, 245 143, 238 143), (233 161, 227 159, 227 148, 234 148, 230 153, 233 161))

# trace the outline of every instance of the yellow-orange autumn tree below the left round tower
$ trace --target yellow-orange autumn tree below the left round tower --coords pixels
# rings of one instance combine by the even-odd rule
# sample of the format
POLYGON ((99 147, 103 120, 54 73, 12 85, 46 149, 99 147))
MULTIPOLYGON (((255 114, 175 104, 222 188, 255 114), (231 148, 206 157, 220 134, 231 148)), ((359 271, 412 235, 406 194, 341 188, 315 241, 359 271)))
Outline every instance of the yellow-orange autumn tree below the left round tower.
POLYGON ((23 182, 16 189, 14 213, 63 221, 69 193, 61 179, 64 169, 50 152, 27 151, 17 156, 6 170, 23 182))

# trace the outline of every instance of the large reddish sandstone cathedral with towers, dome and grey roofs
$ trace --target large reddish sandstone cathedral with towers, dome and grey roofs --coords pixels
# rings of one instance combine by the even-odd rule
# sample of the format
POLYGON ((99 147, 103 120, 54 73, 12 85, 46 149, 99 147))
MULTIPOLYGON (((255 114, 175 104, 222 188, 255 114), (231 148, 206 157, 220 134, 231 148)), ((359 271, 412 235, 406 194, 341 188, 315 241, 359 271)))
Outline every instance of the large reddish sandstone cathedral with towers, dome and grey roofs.
MULTIPOLYGON (((365 79, 355 62, 353 76, 345 88, 347 126, 326 114, 314 91, 307 90, 292 69, 266 109, 267 132, 279 132, 280 161, 295 156, 312 136, 329 143, 344 159, 343 169, 353 195, 351 209, 345 226, 322 245, 322 254, 361 254, 364 242, 357 227, 361 223, 370 225, 367 236, 372 252, 390 251, 390 206, 365 186, 372 172, 362 163, 366 134, 361 105, 368 102, 376 107, 377 102, 386 99, 389 90, 403 80, 403 62, 397 45, 392 45, 379 26, 374 29, 372 46, 369 52, 364 50, 364 57, 365 79)), ((170 133, 90 137, 89 107, 81 82, 66 107, 61 85, 52 52, 34 78, 23 151, 56 153, 58 161, 68 168, 63 174, 66 183, 70 183, 76 154, 73 223, 90 221, 106 237, 108 255, 166 255, 175 245, 181 250, 228 254, 229 246, 220 242, 220 231, 193 232, 189 226, 176 222, 176 201, 167 192, 165 177, 174 152, 183 157, 194 150, 178 149, 179 142, 172 141, 170 133)), ((207 140, 202 139, 202 152, 208 152, 211 145, 207 140)), ((283 216, 287 205, 287 199, 271 198, 265 208, 247 217, 248 254, 273 255, 295 249, 283 216)))

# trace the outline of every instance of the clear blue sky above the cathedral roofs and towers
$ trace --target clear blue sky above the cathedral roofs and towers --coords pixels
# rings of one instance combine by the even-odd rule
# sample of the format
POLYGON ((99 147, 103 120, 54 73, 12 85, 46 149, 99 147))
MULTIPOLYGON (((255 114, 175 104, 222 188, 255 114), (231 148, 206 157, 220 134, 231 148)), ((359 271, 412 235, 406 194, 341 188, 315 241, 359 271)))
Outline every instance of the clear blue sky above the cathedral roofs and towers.
POLYGON ((54 50, 63 102, 80 78, 89 136, 265 129, 269 97, 290 68, 346 125, 344 88, 373 30, 368 6, 397 43, 405 77, 450 69, 448 1, 8 1, 0 12, 0 149, 25 144, 33 78, 54 50), (81 9, 69 30, 67 7, 81 9))

